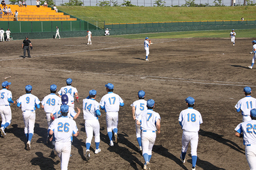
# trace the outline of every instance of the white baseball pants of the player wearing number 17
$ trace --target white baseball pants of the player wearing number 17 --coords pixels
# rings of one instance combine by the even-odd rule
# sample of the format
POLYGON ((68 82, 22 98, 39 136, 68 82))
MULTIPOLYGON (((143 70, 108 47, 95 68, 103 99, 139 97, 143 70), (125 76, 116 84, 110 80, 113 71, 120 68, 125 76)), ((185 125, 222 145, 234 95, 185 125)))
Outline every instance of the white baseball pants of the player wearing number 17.
POLYGON ((114 128, 118 125, 118 112, 107 112, 106 113, 106 124, 107 131, 112 132, 114 128))

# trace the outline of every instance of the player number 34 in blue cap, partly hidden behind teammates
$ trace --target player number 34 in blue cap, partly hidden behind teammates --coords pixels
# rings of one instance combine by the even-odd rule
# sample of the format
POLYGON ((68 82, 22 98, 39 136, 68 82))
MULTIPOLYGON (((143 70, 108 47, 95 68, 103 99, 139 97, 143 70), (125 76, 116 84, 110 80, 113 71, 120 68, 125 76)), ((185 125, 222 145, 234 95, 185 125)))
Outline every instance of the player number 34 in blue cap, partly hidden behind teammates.
POLYGON ((73 107, 73 109, 74 109, 75 108, 74 97, 76 97, 76 102, 79 102, 78 92, 77 92, 76 88, 71 86, 72 79, 68 78, 66 80, 66 82, 67 82, 67 86, 61 88, 60 91, 58 91, 59 97, 66 94, 68 96, 68 104, 67 105, 70 107, 73 107))

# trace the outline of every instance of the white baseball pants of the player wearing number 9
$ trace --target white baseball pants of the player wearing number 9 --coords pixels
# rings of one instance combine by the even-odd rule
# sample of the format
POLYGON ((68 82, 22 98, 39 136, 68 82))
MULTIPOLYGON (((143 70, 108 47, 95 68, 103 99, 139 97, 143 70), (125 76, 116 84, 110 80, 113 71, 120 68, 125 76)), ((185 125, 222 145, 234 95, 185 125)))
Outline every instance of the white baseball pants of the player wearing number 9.
POLYGON ((24 128, 25 134, 34 134, 36 112, 35 111, 23 111, 22 116, 23 116, 23 121, 25 124, 25 128, 24 128))

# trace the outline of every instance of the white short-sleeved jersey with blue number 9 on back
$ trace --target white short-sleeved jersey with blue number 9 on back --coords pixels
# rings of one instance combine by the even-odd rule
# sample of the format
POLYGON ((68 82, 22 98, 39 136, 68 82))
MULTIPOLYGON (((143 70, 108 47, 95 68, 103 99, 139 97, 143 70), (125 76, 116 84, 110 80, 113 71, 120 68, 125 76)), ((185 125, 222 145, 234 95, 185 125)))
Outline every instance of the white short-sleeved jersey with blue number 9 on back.
MULTIPOLYGON (((21 105, 22 111, 35 111, 36 105, 40 104, 40 100, 31 93, 27 93, 26 95, 22 95, 17 100, 17 106, 21 105)), ((39 107, 37 107, 39 108, 39 107)))

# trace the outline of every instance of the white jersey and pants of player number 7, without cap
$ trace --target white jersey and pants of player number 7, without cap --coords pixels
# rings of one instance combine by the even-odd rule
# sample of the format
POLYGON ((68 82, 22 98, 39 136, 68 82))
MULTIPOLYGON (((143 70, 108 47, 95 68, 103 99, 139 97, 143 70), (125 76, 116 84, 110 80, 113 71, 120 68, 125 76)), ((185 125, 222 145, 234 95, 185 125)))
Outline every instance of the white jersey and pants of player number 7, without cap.
POLYGON ((141 112, 136 120, 141 122, 141 144, 144 155, 152 155, 152 148, 156 141, 156 122, 161 120, 160 115, 152 109, 146 109, 141 112))

